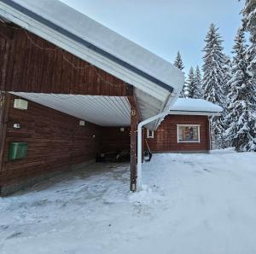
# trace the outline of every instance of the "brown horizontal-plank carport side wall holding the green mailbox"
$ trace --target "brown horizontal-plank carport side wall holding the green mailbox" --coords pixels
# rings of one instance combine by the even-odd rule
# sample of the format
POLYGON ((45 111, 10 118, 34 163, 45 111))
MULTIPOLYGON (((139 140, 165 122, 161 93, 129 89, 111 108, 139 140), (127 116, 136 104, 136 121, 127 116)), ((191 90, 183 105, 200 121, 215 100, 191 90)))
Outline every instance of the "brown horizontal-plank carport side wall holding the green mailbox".
POLYGON ((78 118, 32 101, 21 111, 14 108, 14 99, 12 96, 9 104, 0 186, 95 159, 102 127, 79 126, 78 118), (20 130, 14 129, 15 123, 21 124, 20 130), (9 161, 11 141, 28 143, 26 159, 9 161))

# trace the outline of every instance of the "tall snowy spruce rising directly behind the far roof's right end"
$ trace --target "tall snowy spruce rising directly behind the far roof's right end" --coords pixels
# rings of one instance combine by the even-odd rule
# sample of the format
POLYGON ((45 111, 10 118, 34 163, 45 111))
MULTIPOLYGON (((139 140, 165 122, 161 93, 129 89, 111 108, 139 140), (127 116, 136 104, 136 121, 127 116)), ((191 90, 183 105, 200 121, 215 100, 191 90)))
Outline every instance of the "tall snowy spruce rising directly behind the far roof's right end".
MULTIPOLYGON (((204 99, 211 101, 221 107, 224 105, 224 53, 218 28, 214 24, 210 25, 209 32, 205 39, 205 55, 203 57, 203 78, 202 87, 204 99)), ((212 141, 215 147, 224 147, 224 118, 211 118, 212 141)))

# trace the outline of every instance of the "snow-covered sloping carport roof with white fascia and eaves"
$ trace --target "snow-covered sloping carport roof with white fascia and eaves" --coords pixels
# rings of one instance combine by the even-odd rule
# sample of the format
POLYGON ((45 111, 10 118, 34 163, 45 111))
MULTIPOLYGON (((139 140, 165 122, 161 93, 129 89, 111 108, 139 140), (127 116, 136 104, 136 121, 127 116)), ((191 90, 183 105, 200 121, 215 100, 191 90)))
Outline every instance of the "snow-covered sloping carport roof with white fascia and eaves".
POLYGON ((0 0, 0 15, 132 84, 143 119, 168 110, 183 87, 171 63, 61 1, 0 0))

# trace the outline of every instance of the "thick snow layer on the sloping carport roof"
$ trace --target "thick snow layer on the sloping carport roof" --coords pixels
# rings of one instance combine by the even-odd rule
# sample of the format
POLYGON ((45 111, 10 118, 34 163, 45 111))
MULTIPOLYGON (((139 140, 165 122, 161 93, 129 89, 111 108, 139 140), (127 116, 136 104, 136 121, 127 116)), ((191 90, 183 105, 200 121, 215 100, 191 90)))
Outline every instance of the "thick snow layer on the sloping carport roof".
POLYGON ((166 89, 170 86, 176 89, 177 93, 182 89, 183 73, 177 67, 61 1, 2 1, 17 3, 32 13, 39 14, 45 20, 156 78, 166 84, 166 89))

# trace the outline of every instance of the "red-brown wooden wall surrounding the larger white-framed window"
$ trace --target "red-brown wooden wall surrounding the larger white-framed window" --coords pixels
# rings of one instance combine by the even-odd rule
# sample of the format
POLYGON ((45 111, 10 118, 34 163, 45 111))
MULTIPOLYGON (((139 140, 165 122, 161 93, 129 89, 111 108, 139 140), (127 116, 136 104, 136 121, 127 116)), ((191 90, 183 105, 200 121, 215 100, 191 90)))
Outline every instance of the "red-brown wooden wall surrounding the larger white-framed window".
POLYGON ((154 138, 147 140, 150 149, 156 153, 208 151, 210 149, 208 118, 207 116, 168 115, 154 131, 154 138), (177 124, 201 124, 201 142, 177 143, 177 124))

